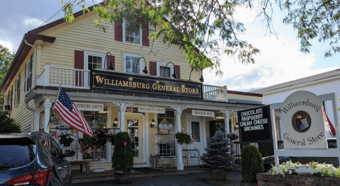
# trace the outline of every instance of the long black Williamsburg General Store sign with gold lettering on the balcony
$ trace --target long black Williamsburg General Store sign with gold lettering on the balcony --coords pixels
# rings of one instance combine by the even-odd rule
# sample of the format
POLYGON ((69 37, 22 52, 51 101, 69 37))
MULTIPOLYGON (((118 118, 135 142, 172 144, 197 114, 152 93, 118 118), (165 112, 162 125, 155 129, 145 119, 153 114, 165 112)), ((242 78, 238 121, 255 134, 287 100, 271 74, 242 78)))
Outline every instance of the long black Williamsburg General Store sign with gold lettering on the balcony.
POLYGON ((115 71, 91 70, 90 73, 91 90, 125 91, 202 99, 202 83, 115 71))

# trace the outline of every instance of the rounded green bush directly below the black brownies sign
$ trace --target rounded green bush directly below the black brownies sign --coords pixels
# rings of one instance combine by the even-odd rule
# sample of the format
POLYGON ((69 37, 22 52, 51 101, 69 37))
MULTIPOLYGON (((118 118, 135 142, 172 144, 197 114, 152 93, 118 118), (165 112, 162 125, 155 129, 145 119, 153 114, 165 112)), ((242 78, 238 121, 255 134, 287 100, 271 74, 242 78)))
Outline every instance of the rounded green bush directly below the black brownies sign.
POLYGON ((263 159, 256 146, 248 144, 241 152, 241 174, 244 182, 257 182, 256 174, 263 173, 263 159))

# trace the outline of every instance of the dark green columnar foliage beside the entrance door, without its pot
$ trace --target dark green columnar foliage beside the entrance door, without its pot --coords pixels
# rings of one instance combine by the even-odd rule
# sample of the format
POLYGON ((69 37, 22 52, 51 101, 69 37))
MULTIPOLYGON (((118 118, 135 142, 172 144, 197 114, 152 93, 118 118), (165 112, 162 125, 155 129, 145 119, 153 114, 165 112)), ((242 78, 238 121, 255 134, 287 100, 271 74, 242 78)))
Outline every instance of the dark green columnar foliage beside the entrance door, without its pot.
POLYGON ((123 170, 126 173, 133 169, 133 152, 130 136, 127 132, 119 132, 114 140, 114 153, 112 154, 112 168, 123 170), (124 143, 126 142, 126 146, 124 143))

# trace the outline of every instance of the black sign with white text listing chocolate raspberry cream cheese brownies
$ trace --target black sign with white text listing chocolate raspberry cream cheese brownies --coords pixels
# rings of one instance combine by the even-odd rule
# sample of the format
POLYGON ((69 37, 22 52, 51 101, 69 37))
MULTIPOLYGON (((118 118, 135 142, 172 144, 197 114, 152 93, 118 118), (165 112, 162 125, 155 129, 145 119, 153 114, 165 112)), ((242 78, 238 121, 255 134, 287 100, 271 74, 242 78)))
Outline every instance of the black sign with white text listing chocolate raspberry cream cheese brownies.
POLYGON ((240 143, 272 141, 269 105, 237 111, 240 143))

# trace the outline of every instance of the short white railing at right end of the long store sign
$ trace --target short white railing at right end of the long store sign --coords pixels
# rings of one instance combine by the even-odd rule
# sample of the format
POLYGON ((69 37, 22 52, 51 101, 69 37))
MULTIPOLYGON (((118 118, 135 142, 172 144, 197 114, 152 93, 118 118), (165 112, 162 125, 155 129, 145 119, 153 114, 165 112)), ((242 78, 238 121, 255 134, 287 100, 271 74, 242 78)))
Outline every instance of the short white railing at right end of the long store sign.
POLYGON ((215 101, 228 101, 226 86, 203 85, 203 99, 215 101))

